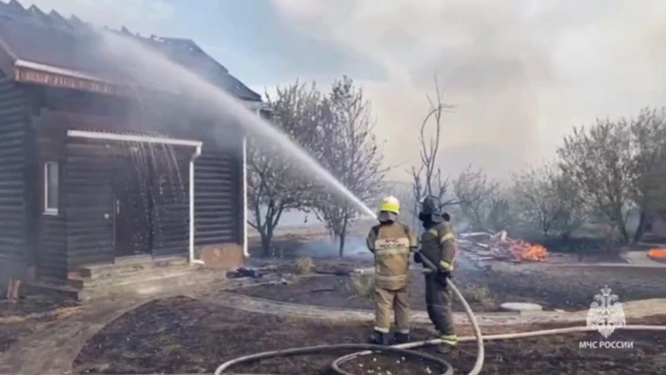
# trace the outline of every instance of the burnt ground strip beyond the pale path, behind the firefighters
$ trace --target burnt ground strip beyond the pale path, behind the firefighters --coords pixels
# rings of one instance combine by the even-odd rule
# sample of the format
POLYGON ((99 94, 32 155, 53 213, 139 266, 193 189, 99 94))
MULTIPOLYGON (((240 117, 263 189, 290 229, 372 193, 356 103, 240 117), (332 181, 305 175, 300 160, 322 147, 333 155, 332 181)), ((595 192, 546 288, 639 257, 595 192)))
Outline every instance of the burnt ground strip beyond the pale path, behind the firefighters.
MULTIPOLYGON (((477 312, 499 311, 503 302, 533 302, 545 310, 578 311, 589 308, 592 297, 607 285, 621 302, 665 297, 663 269, 556 268, 547 265, 509 265, 489 269, 466 268, 454 282, 477 312)), ((411 272, 412 308, 425 310, 425 285, 418 270, 411 272)), ((357 293, 349 276, 311 277, 291 285, 239 288, 236 293, 280 302, 336 308, 373 308, 371 293, 357 293)), ((464 311, 454 302, 454 311, 464 311)))

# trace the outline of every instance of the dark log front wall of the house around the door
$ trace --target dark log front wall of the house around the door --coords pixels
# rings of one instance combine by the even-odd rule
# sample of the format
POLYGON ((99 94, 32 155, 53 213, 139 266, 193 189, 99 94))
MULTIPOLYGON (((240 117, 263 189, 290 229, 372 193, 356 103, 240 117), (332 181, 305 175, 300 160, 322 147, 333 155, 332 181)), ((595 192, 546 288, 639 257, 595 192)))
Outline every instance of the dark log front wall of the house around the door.
MULTIPOLYGON (((111 263, 115 256, 113 220, 106 219, 105 214, 114 212, 114 164, 110 155, 114 151, 106 145, 113 142, 68 139, 67 129, 155 132, 160 131, 162 125, 169 128, 173 125, 169 125, 170 121, 180 122, 180 125, 172 126, 178 131, 164 133, 186 139, 210 139, 210 133, 205 131, 207 126, 210 127, 206 125, 210 121, 188 118, 187 114, 191 112, 185 111, 176 115, 163 110, 160 116, 151 116, 145 108, 137 120, 137 116, 131 116, 127 105, 117 98, 86 96, 67 90, 55 92, 34 86, 26 87, 26 91, 33 116, 31 126, 22 137, 28 139, 26 145, 33 150, 28 152, 24 165, 28 166, 26 171, 31 175, 28 181, 35 184, 28 184, 33 190, 26 193, 30 197, 26 200, 29 220, 27 223, 26 220, 12 220, 12 225, 16 227, 17 223, 24 223, 24 229, 16 229, 23 232, 30 223, 35 225, 36 235, 29 238, 35 238, 37 242, 35 247, 40 254, 37 273, 41 277, 62 279, 68 271, 82 265, 111 263), (31 142, 34 143, 32 146, 31 142), (58 216, 43 214, 43 168, 44 162, 49 161, 60 162, 58 216)), ((0 89, 0 93, 4 92, 0 89)), ((3 116, 0 124, 2 119, 9 117, 3 116)), ((2 128, 0 125, 0 132, 3 132, 2 128)), ((195 245, 198 247, 228 243, 242 245, 245 220, 242 137, 239 132, 231 130, 223 131, 223 134, 227 137, 224 146, 216 146, 214 141, 205 142, 203 154, 195 163, 195 245)), ((8 152, 6 150, 9 148, 1 148, 0 155, 8 152)), ((185 255, 189 250, 189 158, 194 148, 178 146, 160 151, 157 146, 155 150, 158 157, 153 161, 156 175, 151 186, 155 197, 153 254, 185 255), (176 170, 180 173, 173 173, 176 170), (162 189, 160 181, 166 183, 162 189)), ((5 167, 0 166, 0 175, 4 173, 2 168, 5 167)), ((23 191, 24 186, 20 187, 23 191)), ((15 189, 19 191, 18 187, 15 189)), ((2 204, 3 198, 0 198, 0 214, 2 204)), ((25 212, 23 206, 17 209, 18 212, 25 212)), ((0 233, 3 230, 8 232, 10 229, 0 227, 0 233)), ((24 246, 19 243, 22 241, 19 237, 5 238, 11 237, 0 238, 0 251, 2 241, 24 246)))

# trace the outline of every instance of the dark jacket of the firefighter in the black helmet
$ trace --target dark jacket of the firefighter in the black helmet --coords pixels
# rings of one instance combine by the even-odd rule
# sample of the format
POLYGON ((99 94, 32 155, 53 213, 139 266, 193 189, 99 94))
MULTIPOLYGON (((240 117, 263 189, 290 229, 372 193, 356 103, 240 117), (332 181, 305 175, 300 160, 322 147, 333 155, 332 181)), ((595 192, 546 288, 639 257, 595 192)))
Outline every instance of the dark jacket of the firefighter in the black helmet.
POLYGON ((442 222, 426 228, 421 235, 420 253, 437 265, 441 271, 453 271, 453 259, 456 256, 456 238, 451 225, 442 222))

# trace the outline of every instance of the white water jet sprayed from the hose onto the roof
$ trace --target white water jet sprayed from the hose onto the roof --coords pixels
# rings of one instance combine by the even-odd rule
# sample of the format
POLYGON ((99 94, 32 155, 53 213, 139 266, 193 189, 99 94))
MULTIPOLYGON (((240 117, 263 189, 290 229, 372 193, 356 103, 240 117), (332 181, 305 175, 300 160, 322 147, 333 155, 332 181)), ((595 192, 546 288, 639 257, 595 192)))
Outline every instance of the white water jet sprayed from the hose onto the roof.
MULTIPOLYGON (((229 141, 230 131, 245 130, 252 134, 256 141, 265 145, 277 146, 276 152, 279 152, 279 156, 298 164, 301 167, 300 173, 303 175, 309 175, 331 193, 350 202, 360 212, 369 216, 375 215, 373 210, 336 180, 305 150, 293 143, 287 134, 280 132, 273 125, 248 110, 232 94, 216 87, 200 74, 190 71, 182 64, 173 62, 164 54, 147 48, 130 37, 110 32, 100 33, 100 35, 102 42, 99 43, 99 51, 96 53, 109 61, 117 62, 119 69, 123 69, 142 85, 180 94, 178 99, 183 102, 187 101, 174 104, 178 104, 178 106, 187 104, 198 110, 200 115, 208 115, 211 119, 215 119, 216 121, 210 124, 212 125, 209 127, 210 138, 207 141, 219 145, 229 141)), ((171 125, 178 126, 178 123, 172 122, 171 125)), ((180 125, 191 128, 193 124, 182 123, 180 125)))

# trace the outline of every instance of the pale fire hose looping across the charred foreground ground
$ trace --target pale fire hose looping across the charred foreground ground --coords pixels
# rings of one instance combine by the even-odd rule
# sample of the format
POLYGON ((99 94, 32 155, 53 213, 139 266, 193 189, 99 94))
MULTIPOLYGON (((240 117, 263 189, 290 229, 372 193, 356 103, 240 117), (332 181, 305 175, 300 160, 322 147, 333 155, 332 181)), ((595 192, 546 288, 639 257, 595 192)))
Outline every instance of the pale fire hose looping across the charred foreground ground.
MULTIPOLYGON (((421 259, 424 261, 427 268, 433 271, 437 270, 436 266, 432 262, 430 262, 429 259, 427 259, 427 257, 421 256, 421 259)), ((475 317, 474 312, 472 311, 472 308, 470 308, 470 305, 466 301, 465 297, 463 297, 462 293, 460 293, 460 290, 450 280, 447 281, 447 284, 448 286, 451 287, 451 290, 453 290, 453 293, 456 295, 456 298, 458 298, 460 302, 463 304, 465 312, 467 313, 467 316, 470 320, 470 324, 472 324, 472 329, 474 329, 473 336, 465 336, 459 338, 459 342, 476 341, 477 343, 477 359, 475 361, 474 367, 472 367, 472 370, 470 370, 468 375, 478 375, 484 366, 484 358, 485 358, 484 340, 511 340, 516 338, 533 338, 537 336, 561 335, 564 333, 580 333, 580 332, 596 330, 594 327, 574 326, 574 327, 567 327, 560 329, 545 329, 540 331, 502 333, 499 335, 483 336, 481 335, 481 329, 479 328, 479 323, 477 322, 477 318, 475 317)), ((628 325, 621 327, 618 326, 616 328, 630 330, 630 331, 666 331, 666 326, 654 326, 654 325, 628 325)), ((369 354, 373 354, 375 351, 380 351, 393 354, 401 354, 406 358, 407 357, 420 358, 429 363, 439 365, 441 368, 443 368, 444 372, 442 372, 441 375, 452 375, 454 373, 454 369, 452 365, 448 363, 446 360, 435 356, 431 356, 429 354, 421 353, 420 351, 413 350, 419 347, 425 347, 429 345, 441 345, 441 344, 442 344, 441 339, 434 339, 434 340, 407 342, 406 344, 393 345, 390 347, 383 345, 371 345, 371 344, 334 344, 334 345, 318 345, 314 347, 282 349, 275 351, 264 351, 262 353, 250 354, 248 356, 243 356, 235 358, 233 360, 229 360, 220 365, 219 367, 217 367, 217 369, 214 372, 214 375, 223 375, 228 369, 230 369, 233 366, 241 365, 244 363, 251 363, 257 360, 278 358, 278 357, 289 357, 289 356, 303 356, 307 354, 323 354, 325 352, 349 351, 349 350, 359 350, 359 352, 348 354, 346 356, 342 356, 334 360, 331 367, 336 374, 354 375, 342 369, 341 366, 344 363, 348 363, 349 361, 359 358, 361 356, 367 356, 369 354)), ((230 373, 227 372, 226 374, 230 373)))

